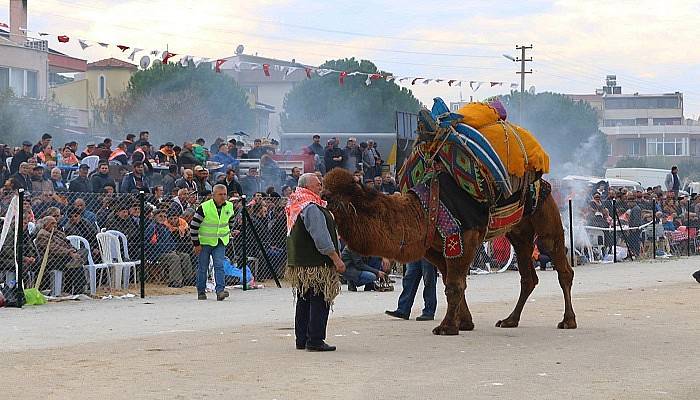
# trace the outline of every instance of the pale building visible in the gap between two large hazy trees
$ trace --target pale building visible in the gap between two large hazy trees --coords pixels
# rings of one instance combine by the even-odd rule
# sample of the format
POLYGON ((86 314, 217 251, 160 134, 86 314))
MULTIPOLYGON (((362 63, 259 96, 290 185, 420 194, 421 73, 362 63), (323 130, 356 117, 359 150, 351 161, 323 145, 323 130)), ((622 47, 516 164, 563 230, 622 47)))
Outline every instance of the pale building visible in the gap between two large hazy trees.
POLYGON ((279 139, 284 97, 297 82, 306 79, 306 66, 294 60, 276 60, 239 53, 228 57, 221 70, 232 76, 248 93, 248 101, 256 112, 256 132, 253 132, 253 136, 279 139), (270 66, 270 76, 266 76, 259 67, 264 64, 270 66))

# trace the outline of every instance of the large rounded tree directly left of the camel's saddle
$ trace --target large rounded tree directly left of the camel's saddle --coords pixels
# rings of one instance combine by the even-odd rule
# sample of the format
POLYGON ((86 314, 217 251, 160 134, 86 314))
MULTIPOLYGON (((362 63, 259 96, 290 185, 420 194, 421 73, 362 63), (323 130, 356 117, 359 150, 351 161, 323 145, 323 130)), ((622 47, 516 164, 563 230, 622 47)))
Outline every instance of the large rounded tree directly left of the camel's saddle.
MULTIPOLYGON (((370 61, 355 58, 327 61, 320 68, 381 73, 370 61)), ((418 112, 420 102, 410 90, 385 79, 367 86, 367 75, 314 77, 297 84, 284 99, 281 114, 286 132, 392 132, 396 111, 418 112)))

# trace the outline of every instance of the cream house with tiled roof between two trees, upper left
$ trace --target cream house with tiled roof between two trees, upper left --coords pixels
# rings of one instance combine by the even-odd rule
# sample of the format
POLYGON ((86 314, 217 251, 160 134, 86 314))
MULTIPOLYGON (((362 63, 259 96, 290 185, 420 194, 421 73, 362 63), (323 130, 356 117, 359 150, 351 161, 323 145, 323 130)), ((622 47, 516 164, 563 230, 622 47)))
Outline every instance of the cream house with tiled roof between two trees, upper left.
POLYGON ((101 134, 100 121, 105 116, 98 114, 96 107, 124 93, 136 69, 136 65, 116 58, 99 60, 87 64, 86 72, 76 74, 72 82, 54 85, 50 93, 67 109, 71 129, 101 134))

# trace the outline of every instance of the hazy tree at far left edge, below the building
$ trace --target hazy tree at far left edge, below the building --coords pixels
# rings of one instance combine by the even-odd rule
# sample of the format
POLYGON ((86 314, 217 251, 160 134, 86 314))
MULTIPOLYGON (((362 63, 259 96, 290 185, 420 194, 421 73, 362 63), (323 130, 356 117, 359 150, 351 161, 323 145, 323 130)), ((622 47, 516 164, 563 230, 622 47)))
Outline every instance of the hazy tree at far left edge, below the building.
POLYGON ((14 146, 48 133, 58 142, 65 138, 62 111, 52 102, 15 97, 11 90, 0 92, 0 138, 14 146))

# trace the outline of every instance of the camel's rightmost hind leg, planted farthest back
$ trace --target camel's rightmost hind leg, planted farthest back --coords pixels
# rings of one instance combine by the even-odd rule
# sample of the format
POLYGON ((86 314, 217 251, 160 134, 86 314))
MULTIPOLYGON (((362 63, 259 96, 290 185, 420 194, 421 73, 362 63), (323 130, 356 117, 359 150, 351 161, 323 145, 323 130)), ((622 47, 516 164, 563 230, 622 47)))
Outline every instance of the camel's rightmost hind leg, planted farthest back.
MULTIPOLYGON (((539 241, 552 256, 554 269, 559 276, 559 286, 564 292, 564 319, 557 325, 559 329, 575 329, 576 314, 571 304, 571 286, 574 281, 574 270, 569 265, 564 246, 564 228, 561 225, 559 209, 552 196, 547 196, 541 208, 531 218, 539 241)), ((520 260, 518 260, 520 261, 520 260)))

